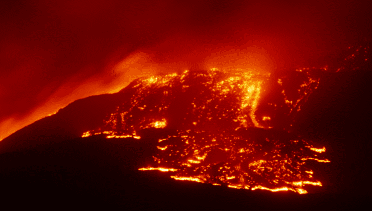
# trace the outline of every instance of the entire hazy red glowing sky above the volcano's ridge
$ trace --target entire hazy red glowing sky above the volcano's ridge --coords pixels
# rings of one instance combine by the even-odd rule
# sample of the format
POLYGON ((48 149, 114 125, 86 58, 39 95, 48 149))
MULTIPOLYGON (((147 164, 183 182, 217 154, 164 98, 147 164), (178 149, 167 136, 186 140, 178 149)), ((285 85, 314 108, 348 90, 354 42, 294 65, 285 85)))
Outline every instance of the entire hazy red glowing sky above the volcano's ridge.
POLYGON ((0 140, 69 102, 184 69, 272 72, 372 35, 372 2, 0 3, 0 140))

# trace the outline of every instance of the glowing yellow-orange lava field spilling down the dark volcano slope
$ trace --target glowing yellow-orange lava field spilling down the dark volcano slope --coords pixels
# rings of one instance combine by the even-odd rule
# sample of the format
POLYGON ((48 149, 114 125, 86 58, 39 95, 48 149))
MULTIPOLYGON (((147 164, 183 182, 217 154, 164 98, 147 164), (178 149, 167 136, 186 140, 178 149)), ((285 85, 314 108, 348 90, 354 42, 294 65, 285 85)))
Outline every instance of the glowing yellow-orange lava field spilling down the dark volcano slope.
POLYGON ((304 68, 275 78, 211 69, 140 78, 121 90, 127 98, 105 124, 82 137, 140 139, 141 131, 152 128, 161 134, 153 136, 157 153, 139 170, 233 188, 307 193, 306 185, 322 186, 307 162, 330 161, 322 157, 324 147, 289 132, 318 87, 320 71, 324 68, 304 68))

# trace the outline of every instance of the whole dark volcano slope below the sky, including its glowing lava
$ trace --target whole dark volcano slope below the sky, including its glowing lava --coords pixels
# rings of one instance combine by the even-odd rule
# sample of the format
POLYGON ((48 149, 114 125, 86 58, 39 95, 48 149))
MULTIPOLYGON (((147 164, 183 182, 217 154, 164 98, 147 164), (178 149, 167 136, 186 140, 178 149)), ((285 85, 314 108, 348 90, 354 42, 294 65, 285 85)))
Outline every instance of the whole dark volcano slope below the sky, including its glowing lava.
POLYGON ((76 100, 0 142, 4 202, 360 205, 371 196, 368 49, 331 67, 185 71, 76 100))

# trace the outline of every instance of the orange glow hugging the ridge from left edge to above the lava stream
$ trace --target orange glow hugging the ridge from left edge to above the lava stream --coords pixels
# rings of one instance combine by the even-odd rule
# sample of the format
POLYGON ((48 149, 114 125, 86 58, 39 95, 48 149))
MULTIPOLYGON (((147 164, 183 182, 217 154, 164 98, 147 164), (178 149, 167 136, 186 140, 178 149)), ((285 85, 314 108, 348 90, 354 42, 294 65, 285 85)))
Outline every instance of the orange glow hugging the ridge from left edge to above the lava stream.
POLYGON ((161 43, 151 48, 134 51, 121 61, 106 65, 102 72, 91 77, 84 78, 83 74, 74 75, 27 115, 9 117, 0 122, 0 131, 2 131, 0 140, 37 120, 55 114, 74 100, 91 95, 118 92, 136 78, 158 73, 179 72, 189 67, 196 69, 210 69, 216 66, 228 69, 239 67, 254 73, 267 73, 271 72, 276 65, 270 53, 258 45, 231 51, 228 50, 228 46, 223 45, 213 48, 206 44, 188 47, 192 42, 195 40, 184 42, 184 52, 174 50, 158 58, 159 48, 167 45, 167 43, 161 43), (217 51, 217 49, 226 50, 217 51), (195 52, 198 53, 195 55, 195 52), (170 56, 174 54, 180 55, 175 58, 170 56))

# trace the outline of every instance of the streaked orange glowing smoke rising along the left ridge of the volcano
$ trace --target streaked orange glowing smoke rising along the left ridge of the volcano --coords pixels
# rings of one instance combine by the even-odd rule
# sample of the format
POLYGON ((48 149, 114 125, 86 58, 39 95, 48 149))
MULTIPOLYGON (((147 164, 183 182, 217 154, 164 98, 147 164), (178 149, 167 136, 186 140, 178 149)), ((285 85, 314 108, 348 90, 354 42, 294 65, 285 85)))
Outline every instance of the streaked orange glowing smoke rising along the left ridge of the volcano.
POLYGON ((151 61, 145 53, 134 52, 118 64, 108 65, 103 73, 90 78, 74 76, 25 117, 14 116, 0 122, 0 131, 2 131, 0 140, 37 120, 55 114, 74 100, 91 95, 117 92, 132 80, 157 74, 162 68, 167 69, 161 64, 151 61), (80 81, 81 79, 82 81, 80 81))

